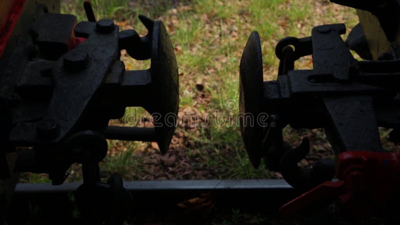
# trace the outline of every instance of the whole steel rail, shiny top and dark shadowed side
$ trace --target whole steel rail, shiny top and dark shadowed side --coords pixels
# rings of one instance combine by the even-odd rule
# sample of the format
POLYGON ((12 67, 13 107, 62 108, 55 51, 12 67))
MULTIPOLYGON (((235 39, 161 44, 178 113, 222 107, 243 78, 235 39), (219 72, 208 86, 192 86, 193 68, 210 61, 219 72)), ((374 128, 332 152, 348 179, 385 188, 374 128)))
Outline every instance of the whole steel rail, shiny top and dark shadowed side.
MULTIPOLYGON (((47 205, 54 205, 59 204, 54 199, 74 192, 80 184, 18 183, 14 196, 41 199, 47 205)), ((143 213, 158 209, 175 211, 177 203, 202 193, 208 193, 217 208, 262 208, 277 212, 280 205, 299 194, 283 179, 125 181, 124 187, 132 194, 134 204, 140 205, 136 210, 143 213)))

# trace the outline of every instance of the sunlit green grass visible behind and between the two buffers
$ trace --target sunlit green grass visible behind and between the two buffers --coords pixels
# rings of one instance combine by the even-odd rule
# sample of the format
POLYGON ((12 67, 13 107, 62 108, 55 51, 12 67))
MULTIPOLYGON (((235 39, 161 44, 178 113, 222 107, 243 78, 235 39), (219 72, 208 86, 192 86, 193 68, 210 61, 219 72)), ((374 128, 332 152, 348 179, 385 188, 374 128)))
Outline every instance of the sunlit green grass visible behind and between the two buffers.
MULTIPOLYGON (((82 2, 82 0, 63 0, 61 11, 76 14, 78 20, 85 20, 82 2)), ((180 74, 180 109, 192 107, 199 112, 221 112, 227 115, 238 112, 238 67, 243 47, 251 31, 259 32, 264 79, 271 80, 276 76, 278 65, 274 46, 280 38, 308 36, 313 26, 326 23, 345 22, 349 31, 357 22, 355 10, 334 5, 328 0, 91 0, 91 2, 97 19, 112 18, 115 22, 120 22, 121 29, 133 27, 141 35, 145 34, 146 30, 137 19, 138 14, 162 20, 176 50, 180 74), (201 93, 205 95, 205 103, 199 102, 200 92, 195 86, 197 83, 204 85, 204 91, 201 93)), ((127 69, 149 67, 148 60, 136 61, 127 56, 123 56, 122 59, 127 69)), ((310 57, 296 62, 297 68, 312 66, 306 63, 309 59, 310 57)), ((126 113, 132 111, 133 108, 127 108, 126 113)), ((143 109, 137 111, 143 112, 143 109)), ((251 166, 238 126, 220 126, 215 124, 215 118, 211 117, 210 125, 207 127, 199 128, 197 131, 178 127, 177 131, 184 133, 190 143, 190 147, 185 149, 185 154, 200 160, 193 162, 200 165, 191 166, 205 166, 215 171, 215 178, 273 176, 271 172, 265 170, 263 164, 259 169, 251 166)), ((301 135, 301 131, 293 132, 292 129, 285 129, 285 137, 289 142, 298 141, 301 135)), ((120 143, 109 141, 109 148, 115 148, 115 145, 121 145, 120 143)), ((122 142, 122 145, 124 150, 114 151, 101 163, 102 175, 120 172, 125 179, 140 179, 144 167, 137 152, 146 147, 140 142, 122 142)), ((318 147, 315 149, 318 150, 318 147)), ((45 180, 42 176, 33 175, 26 181, 45 180)))

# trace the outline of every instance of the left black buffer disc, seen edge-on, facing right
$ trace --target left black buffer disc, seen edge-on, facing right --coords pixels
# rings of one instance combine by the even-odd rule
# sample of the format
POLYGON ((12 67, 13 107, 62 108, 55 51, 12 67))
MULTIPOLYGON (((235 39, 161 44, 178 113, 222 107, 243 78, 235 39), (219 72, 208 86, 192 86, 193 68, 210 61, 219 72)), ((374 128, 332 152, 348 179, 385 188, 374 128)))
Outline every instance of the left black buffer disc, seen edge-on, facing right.
POLYGON ((161 21, 153 26, 151 46, 152 107, 158 148, 166 152, 175 131, 179 107, 178 66, 172 43, 161 21))

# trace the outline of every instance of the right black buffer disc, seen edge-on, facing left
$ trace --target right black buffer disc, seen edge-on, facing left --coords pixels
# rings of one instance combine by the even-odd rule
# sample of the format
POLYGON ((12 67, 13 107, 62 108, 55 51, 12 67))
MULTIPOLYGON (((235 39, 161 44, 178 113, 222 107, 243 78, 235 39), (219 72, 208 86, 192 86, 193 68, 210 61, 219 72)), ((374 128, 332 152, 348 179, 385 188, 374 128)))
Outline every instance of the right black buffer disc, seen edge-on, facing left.
POLYGON ((257 117, 262 112, 262 54, 257 31, 251 32, 240 59, 240 132, 252 165, 261 160, 262 127, 257 117))

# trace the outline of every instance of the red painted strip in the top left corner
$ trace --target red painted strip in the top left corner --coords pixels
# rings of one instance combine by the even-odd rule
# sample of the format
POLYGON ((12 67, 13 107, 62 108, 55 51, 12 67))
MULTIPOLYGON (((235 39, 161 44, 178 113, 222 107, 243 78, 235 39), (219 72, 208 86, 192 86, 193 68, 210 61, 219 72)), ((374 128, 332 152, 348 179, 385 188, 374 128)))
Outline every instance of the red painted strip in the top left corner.
POLYGON ((25 0, 14 0, 14 3, 11 7, 11 10, 8 13, 7 21, 5 22, 4 27, 0 27, 0 57, 4 52, 5 46, 7 45, 7 41, 11 36, 12 30, 16 22, 18 21, 19 15, 22 12, 23 5, 25 0))

